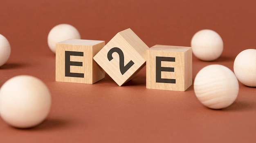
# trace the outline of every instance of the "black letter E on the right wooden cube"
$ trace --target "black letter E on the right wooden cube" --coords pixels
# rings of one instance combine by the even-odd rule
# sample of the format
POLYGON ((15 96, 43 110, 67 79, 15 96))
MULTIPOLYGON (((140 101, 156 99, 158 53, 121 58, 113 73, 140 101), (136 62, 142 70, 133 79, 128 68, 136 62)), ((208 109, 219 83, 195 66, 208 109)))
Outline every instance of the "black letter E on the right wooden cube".
POLYGON ((161 76, 161 72, 174 72, 174 68, 173 67, 161 67, 161 61, 168 61, 168 62, 175 62, 175 58, 174 57, 162 57, 162 56, 156 56, 156 62, 155 62, 155 66, 156 66, 156 82, 162 82, 162 83, 176 83, 175 79, 166 79, 166 78, 162 78, 161 76))

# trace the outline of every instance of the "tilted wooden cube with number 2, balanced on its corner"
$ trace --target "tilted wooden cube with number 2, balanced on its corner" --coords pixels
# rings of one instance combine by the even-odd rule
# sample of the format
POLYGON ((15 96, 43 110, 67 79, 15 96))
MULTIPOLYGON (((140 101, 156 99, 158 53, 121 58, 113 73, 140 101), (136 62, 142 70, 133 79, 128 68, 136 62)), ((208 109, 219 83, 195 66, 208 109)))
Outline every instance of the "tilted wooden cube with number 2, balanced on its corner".
POLYGON ((129 28, 118 32, 93 59, 121 86, 145 65, 147 49, 129 28))

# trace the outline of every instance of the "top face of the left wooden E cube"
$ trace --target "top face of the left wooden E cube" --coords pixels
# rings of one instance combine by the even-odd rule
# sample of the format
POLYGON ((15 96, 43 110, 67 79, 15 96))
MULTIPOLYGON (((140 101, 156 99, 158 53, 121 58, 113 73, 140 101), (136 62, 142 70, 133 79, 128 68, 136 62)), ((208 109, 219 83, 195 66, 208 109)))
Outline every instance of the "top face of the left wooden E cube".
POLYGON ((68 40, 65 40, 65 41, 61 41, 57 44, 92 46, 92 45, 97 45, 97 44, 102 43, 102 42, 105 43, 105 41, 99 41, 99 40, 68 39, 68 40))

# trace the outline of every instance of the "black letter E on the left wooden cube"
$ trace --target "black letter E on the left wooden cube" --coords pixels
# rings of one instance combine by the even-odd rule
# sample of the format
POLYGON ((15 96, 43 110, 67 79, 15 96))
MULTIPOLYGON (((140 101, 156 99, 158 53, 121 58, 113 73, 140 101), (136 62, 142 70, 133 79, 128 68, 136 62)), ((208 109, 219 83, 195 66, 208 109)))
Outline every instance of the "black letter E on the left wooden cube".
POLYGON ((71 73, 70 65, 83 66, 82 62, 70 61, 70 56, 83 56, 83 52, 65 51, 65 76, 83 78, 81 73, 71 73))

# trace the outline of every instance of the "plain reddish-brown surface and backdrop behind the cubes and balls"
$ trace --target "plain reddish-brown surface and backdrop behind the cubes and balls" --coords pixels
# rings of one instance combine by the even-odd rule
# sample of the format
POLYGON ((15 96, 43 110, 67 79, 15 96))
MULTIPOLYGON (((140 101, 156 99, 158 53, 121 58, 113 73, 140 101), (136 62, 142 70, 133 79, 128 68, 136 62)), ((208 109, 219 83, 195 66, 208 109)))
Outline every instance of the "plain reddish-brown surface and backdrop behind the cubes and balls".
POLYGON ((209 64, 233 70, 236 55, 256 45, 253 0, 8 0, 0 4, 0 33, 11 43, 11 57, 0 68, 0 85, 27 74, 52 92, 52 110, 36 128, 11 128, 0 119, 1 143, 167 143, 254 142, 255 88, 240 84, 237 100, 211 110, 185 92, 146 89, 146 69, 119 87, 109 76, 94 85, 55 82, 55 55, 49 30, 75 26, 82 39, 105 40, 131 28, 149 47, 190 46, 201 29, 218 32, 224 52, 214 62, 193 57, 193 79, 209 64))

